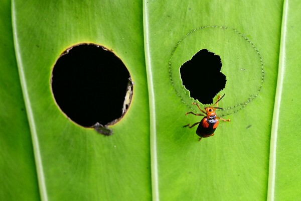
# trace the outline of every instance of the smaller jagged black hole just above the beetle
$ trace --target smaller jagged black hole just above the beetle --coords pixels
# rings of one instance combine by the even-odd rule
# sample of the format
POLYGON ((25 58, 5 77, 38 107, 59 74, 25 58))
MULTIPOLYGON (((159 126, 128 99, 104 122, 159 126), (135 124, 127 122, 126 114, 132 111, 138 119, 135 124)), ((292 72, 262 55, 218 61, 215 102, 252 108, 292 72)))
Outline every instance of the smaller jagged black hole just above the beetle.
POLYGON ((202 104, 212 104, 214 96, 226 84, 226 76, 220 72, 221 58, 206 49, 200 50, 180 68, 183 85, 190 96, 202 104))

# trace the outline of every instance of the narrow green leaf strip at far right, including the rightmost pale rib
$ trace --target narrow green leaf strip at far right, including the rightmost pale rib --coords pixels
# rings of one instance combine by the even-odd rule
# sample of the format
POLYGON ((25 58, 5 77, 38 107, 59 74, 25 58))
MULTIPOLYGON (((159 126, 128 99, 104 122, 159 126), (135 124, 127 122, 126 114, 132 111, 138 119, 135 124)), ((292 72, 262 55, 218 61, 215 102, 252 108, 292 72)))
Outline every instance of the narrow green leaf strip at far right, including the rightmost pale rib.
POLYGON ((298 42, 301 22, 297 1, 284 1, 278 79, 271 132, 269 200, 295 200, 300 197, 297 186, 301 174, 298 122, 300 106, 300 78, 298 42))

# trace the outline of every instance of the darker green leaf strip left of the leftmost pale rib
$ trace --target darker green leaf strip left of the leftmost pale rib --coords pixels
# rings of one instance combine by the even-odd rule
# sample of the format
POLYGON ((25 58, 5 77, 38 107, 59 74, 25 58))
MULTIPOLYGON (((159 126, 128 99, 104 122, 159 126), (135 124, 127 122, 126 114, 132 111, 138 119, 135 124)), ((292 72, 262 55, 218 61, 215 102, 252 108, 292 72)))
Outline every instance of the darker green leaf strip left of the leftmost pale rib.
POLYGON ((0 6, 0 199, 39 200, 31 133, 15 58, 10 1, 0 6))

